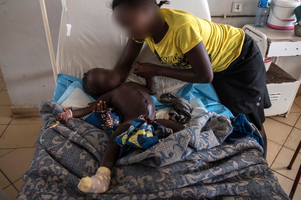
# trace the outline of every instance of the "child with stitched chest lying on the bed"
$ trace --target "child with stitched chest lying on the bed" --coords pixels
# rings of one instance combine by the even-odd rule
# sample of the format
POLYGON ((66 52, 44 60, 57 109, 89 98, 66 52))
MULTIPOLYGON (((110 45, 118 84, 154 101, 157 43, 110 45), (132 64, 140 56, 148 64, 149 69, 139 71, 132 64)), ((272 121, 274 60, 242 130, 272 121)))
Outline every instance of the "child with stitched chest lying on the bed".
MULTIPOLYGON (((137 62, 134 65, 139 65, 137 62)), ((70 118, 80 118, 92 113, 102 101, 106 105, 113 106, 119 110, 123 117, 122 123, 117 127, 109 138, 109 143, 102 156, 100 167, 92 177, 82 178, 78 188, 83 192, 104 193, 110 184, 111 170, 118 159, 120 146, 113 141, 114 138, 126 132, 133 119, 141 114, 155 119, 155 106, 150 95, 156 93, 155 85, 151 78, 146 78, 146 86, 135 82, 120 82, 119 74, 114 70, 94 68, 84 74, 83 86, 86 93, 90 95, 101 95, 90 107, 69 111, 63 109, 59 121, 66 123, 70 118)), ((166 119, 155 119, 156 122, 177 132, 184 128, 176 122, 166 119)))

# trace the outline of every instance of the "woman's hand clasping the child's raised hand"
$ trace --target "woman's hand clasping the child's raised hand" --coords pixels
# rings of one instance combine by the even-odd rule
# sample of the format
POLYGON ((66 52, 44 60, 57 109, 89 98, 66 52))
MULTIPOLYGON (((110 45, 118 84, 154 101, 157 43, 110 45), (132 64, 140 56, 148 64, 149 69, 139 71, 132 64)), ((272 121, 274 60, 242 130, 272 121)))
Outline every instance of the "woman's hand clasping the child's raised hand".
POLYGON ((159 75, 159 67, 153 63, 149 62, 135 62, 134 65, 134 74, 142 78, 152 78, 159 75))

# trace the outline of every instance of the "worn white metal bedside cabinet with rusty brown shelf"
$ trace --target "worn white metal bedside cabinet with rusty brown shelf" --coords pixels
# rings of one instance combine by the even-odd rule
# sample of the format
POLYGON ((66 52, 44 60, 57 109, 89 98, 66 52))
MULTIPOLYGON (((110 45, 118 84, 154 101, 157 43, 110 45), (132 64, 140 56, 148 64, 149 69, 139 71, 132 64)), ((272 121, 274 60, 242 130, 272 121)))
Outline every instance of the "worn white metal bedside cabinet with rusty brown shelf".
POLYGON ((301 37, 296 36, 293 29, 245 25, 243 30, 258 44, 263 58, 273 57, 267 71, 272 107, 265 110, 266 116, 285 114, 287 117, 301 82, 301 37))

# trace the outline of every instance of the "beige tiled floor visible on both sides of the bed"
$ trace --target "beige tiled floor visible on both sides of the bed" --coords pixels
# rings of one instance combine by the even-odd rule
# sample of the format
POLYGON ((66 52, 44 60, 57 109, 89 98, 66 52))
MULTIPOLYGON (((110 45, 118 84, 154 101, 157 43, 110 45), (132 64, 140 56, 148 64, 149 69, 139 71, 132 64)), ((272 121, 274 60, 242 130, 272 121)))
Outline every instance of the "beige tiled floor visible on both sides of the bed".
MULTIPOLYGON (((295 98, 288 118, 274 116, 264 123, 268 138, 267 161, 287 194, 301 163, 299 153, 293 169, 286 169, 301 139, 300 115, 301 96, 295 98)), ((23 184, 22 174, 30 166, 40 124, 40 118, 12 118, 10 100, 0 71, 0 188, 10 199, 17 196, 23 184)), ((294 199, 300 196, 301 184, 294 199)))

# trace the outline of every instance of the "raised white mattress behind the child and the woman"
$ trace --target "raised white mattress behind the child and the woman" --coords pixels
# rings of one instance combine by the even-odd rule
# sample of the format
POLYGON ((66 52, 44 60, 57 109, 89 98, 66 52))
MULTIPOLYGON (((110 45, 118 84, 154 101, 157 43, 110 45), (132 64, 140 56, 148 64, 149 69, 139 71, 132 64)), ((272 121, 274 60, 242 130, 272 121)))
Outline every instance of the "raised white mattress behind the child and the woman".
MULTIPOLYGON (((89 69, 101 67, 114 69, 118 63, 128 38, 118 34, 111 25, 110 0, 66 0, 69 23, 72 25, 70 37, 66 36, 67 16, 63 9, 59 44, 57 51, 58 74, 69 74, 82 78, 89 69), (69 40, 70 39, 70 40, 69 40), (70 41, 70 42, 69 42, 70 41), (70 64, 67 66, 70 60, 70 64)), ((185 10, 199 18, 211 20, 206 0, 170 0, 163 7, 185 10)), ((145 43, 137 59, 162 65, 145 43)), ((144 83, 132 71, 126 81, 144 83)), ((177 92, 186 83, 166 77, 154 78, 157 94, 177 92)))

